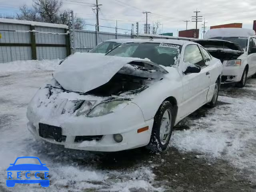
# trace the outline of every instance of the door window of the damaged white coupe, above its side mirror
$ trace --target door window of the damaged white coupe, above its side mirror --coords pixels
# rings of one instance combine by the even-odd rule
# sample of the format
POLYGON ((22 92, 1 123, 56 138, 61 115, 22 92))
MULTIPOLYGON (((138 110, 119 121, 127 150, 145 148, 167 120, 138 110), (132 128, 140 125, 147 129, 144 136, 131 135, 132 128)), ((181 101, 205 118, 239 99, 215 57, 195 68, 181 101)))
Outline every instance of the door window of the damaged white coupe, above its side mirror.
POLYGON ((204 59, 197 45, 188 45, 184 51, 183 61, 189 62, 190 64, 196 64, 201 67, 205 66, 204 59))

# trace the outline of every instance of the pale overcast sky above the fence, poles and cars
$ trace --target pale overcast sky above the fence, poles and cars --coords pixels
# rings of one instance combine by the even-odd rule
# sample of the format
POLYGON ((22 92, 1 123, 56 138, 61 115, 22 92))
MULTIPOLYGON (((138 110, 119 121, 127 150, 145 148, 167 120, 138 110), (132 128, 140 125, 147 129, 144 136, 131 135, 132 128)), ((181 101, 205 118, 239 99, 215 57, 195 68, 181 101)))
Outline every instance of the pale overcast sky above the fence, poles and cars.
MULTIPOLYGON (((84 18, 86 23, 95 24, 95 14, 91 4, 96 3, 96 0, 62 0, 62 2, 63 9, 72 9, 74 14, 84 18)), ((143 32, 142 25, 146 22, 146 14, 142 12, 149 11, 152 13, 148 14, 148 22, 152 24, 158 20, 163 24, 163 32, 173 32, 174 36, 177 34, 177 29, 186 29, 184 20, 191 20, 196 9, 201 11, 198 15, 205 18, 208 27, 241 22, 243 28, 252 29, 253 20, 256 20, 256 0, 98 0, 98 3, 102 4, 100 25, 115 27, 115 20, 118 20, 118 28, 131 29, 132 23, 139 22, 140 32, 143 32)), ((31 6, 32 0, 0 0, 0 13, 13 15, 19 11, 18 8, 22 4, 31 6)), ((188 23, 188 29, 195 27, 195 22, 188 23)), ((198 28, 201 27, 202 23, 199 23, 198 28)), ((88 30, 93 28, 86 27, 88 30)), ((106 29, 100 28, 100 30, 106 29)), ((106 31, 114 32, 114 29, 106 31)))

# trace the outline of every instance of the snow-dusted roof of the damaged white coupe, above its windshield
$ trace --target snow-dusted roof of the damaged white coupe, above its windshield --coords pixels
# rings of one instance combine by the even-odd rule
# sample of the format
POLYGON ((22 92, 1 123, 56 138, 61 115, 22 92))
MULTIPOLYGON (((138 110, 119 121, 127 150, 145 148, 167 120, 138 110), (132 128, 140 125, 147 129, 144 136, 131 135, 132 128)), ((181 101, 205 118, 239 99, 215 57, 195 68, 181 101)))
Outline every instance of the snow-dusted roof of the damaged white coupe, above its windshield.
POLYGON ((181 40, 181 39, 110 39, 106 40, 106 42, 117 42, 117 43, 170 43, 170 44, 177 44, 177 45, 183 45, 188 42, 192 44, 196 44, 194 42, 188 41, 188 40, 181 40))

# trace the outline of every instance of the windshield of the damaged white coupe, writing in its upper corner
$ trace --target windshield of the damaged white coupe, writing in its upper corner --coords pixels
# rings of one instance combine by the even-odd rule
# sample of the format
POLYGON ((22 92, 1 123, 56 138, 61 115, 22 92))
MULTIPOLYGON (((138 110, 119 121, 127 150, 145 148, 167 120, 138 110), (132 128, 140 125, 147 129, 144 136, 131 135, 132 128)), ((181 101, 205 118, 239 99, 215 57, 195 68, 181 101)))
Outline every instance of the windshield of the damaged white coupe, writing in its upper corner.
POLYGON ((180 45, 168 43, 127 43, 118 46, 107 55, 147 58, 159 65, 172 66, 175 64, 180 48, 180 45))

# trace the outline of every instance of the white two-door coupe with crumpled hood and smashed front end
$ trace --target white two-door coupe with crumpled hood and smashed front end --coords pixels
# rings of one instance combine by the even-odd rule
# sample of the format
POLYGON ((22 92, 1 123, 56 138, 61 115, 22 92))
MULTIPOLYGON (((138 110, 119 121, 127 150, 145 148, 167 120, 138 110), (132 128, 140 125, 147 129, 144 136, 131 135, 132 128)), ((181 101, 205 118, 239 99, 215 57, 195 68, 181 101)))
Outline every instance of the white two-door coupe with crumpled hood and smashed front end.
POLYGON ((28 104, 28 129, 65 148, 164 150, 174 125, 204 104, 216 106, 221 72, 220 60, 184 40, 76 53, 28 104))

